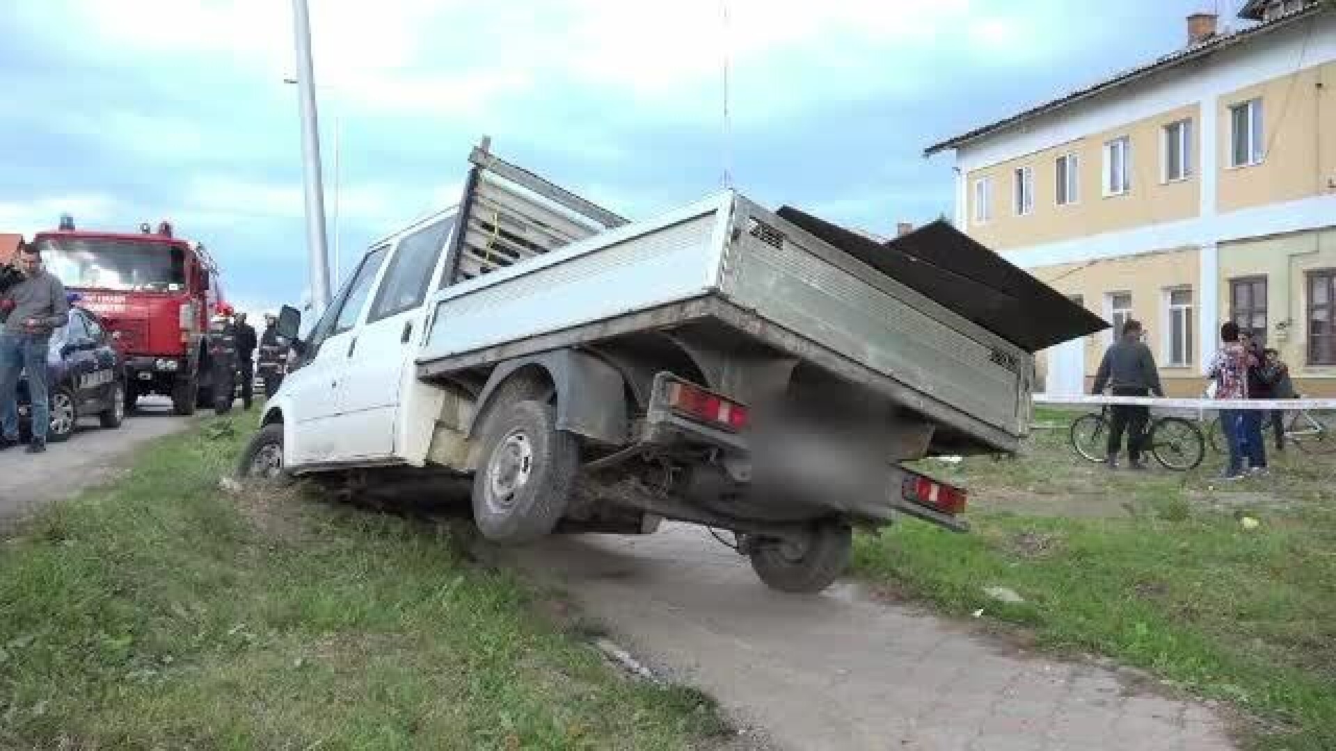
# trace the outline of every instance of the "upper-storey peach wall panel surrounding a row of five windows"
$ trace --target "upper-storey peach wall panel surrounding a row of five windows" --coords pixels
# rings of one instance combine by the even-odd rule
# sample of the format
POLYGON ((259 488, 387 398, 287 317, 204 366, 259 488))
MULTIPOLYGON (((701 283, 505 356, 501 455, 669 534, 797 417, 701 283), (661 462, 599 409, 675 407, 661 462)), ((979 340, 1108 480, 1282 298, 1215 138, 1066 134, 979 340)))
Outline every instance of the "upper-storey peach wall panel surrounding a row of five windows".
POLYGON ((1184 119, 1194 124, 1192 150, 1196 154, 1201 143, 1201 115, 1200 107, 1193 104, 969 172, 969 234, 995 250, 1010 250, 1196 216, 1200 159, 1193 159, 1196 168, 1186 180, 1166 183, 1160 170, 1164 126, 1184 119), (1132 144, 1132 187, 1125 194, 1105 195, 1105 143, 1121 136, 1128 136, 1132 144), (1057 160, 1067 154, 1077 156, 1077 200, 1059 206, 1057 160), (1015 211, 1015 170, 1022 167, 1034 171, 1034 210, 1026 215, 1015 211), (991 180, 989 219, 983 223, 975 222, 974 186, 979 179, 991 180))

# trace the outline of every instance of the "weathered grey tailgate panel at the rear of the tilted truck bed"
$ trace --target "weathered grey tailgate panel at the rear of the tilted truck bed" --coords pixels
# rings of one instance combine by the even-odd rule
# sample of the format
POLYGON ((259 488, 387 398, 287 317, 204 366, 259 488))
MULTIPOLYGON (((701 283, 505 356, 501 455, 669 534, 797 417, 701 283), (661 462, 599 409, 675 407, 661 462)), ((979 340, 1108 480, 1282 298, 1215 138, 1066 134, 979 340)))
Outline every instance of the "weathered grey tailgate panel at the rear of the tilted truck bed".
POLYGON ((953 327, 783 233, 743 233, 724 266, 731 302, 1009 434, 1023 433, 1017 401, 1025 357, 970 337, 975 325, 953 327))

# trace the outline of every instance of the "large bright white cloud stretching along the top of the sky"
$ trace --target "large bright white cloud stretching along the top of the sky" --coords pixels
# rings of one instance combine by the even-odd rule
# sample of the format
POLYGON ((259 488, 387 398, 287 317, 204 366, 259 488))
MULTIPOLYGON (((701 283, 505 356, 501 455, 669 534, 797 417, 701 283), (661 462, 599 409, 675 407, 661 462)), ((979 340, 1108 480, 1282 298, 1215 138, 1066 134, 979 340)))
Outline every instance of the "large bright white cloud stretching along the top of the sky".
MULTIPOLYGON (((737 118, 935 86, 931 59, 1009 64, 1042 33, 1031 3, 978 0, 453 0, 313 3, 323 96, 473 130, 561 95, 685 120, 719 118, 723 59, 737 118), (724 8, 727 7, 727 25, 724 8), (946 51, 946 52, 943 52, 946 51), (462 122, 460 122, 462 120, 462 122)), ((295 69, 291 11, 273 0, 67 0, 80 44, 206 59, 275 86, 295 69)), ((532 123, 540 126, 541 123, 532 123)))

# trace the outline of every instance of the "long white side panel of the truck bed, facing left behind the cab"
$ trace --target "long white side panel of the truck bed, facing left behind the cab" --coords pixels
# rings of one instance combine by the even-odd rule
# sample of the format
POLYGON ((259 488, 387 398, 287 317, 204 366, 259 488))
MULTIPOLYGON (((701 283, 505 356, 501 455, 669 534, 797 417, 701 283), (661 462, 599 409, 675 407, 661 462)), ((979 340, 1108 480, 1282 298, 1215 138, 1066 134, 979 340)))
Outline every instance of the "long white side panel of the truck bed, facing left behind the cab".
POLYGON ((697 298, 719 266, 719 211, 620 242, 558 251, 441 295, 418 363, 697 298))

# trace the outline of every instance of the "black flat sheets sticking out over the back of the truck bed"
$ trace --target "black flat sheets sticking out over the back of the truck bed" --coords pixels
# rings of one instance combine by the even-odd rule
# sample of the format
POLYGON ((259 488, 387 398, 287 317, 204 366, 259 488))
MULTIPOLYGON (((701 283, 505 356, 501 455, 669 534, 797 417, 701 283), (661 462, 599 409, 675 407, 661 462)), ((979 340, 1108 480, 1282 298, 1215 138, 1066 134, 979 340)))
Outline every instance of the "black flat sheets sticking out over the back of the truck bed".
POLYGON ((947 222, 879 243, 790 206, 778 214, 1026 351, 1109 327, 947 222))

